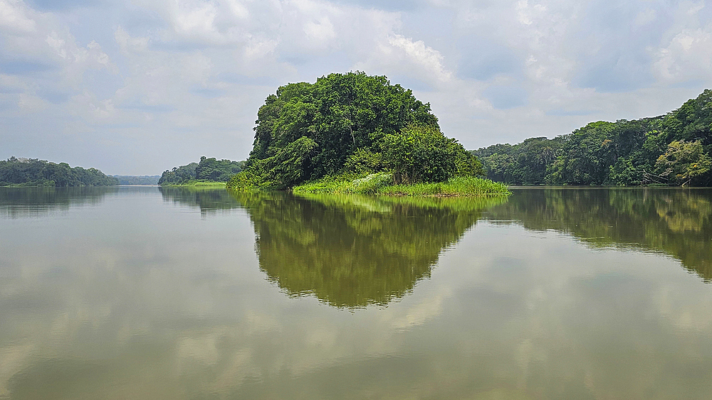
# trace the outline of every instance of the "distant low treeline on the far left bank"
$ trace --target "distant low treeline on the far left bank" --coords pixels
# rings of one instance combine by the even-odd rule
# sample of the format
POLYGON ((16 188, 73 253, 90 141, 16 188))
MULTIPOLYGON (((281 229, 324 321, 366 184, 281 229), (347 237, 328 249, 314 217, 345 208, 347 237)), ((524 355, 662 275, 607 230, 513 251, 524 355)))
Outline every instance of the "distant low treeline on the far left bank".
POLYGON ((50 163, 37 158, 10 157, 0 161, 0 186, 107 186, 119 180, 96 168, 71 168, 68 163, 50 163))

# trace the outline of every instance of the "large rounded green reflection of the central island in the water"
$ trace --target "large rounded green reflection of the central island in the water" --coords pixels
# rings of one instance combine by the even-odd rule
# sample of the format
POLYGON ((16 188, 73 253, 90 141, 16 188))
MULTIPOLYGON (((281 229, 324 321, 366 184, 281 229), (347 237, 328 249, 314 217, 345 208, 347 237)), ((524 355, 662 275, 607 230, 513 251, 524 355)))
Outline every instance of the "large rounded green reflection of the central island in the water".
POLYGON ((261 269, 290 296, 339 308, 385 305, 430 275, 442 249, 506 199, 234 193, 261 269))

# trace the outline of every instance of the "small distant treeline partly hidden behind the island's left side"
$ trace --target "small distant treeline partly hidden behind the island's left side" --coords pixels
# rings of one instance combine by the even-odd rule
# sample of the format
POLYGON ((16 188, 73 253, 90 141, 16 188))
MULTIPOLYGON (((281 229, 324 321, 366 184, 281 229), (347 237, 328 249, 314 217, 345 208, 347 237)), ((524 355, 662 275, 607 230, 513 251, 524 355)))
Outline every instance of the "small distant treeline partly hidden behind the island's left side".
POLYGON ((158 180, 159 185, 181 185, 191 180, 227 182, 232 175, 242 171, 244 161, 217 160, 202 156, 199 163, 174 167, 164 171, 158 180))

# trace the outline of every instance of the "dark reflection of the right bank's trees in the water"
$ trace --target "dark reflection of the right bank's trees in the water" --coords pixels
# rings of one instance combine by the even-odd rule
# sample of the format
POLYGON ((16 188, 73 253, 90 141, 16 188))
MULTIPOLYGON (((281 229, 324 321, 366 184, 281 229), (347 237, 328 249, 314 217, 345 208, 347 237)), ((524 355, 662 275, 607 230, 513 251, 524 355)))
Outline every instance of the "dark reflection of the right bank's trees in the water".
POLYGON ((665 252, 712 281, 712 190, 542 188, 515 190, 492 220, 570 232, 593 246, 665 252))

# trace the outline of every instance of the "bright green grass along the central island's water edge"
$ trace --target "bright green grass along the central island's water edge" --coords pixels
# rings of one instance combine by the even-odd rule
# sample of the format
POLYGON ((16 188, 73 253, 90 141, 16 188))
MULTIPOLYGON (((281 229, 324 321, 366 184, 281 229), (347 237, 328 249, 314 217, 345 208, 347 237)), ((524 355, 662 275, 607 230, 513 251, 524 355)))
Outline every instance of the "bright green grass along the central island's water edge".
POLYGON ((492 180, 456 176, 445 182, 394 185, 390 173, 372 173, 363 178, 322 178, 292 188, 293 193, 333 193, 405 196, 507 196, 507 185, 492 180))

